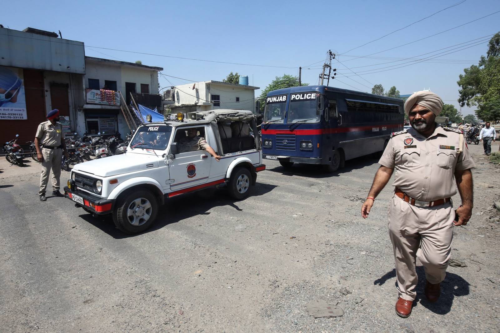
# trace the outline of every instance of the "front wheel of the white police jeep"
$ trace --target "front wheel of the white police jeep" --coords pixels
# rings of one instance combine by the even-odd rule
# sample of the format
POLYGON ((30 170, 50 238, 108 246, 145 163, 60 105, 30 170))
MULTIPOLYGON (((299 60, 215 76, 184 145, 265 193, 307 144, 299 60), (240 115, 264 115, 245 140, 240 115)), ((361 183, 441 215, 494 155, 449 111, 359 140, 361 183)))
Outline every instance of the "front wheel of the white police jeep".
POLYGON ((113 222, 125 233, 139 233, 152 224, 157 213, 158 202, 154 195, 146 190, 133 191, 116 201, 113 222))

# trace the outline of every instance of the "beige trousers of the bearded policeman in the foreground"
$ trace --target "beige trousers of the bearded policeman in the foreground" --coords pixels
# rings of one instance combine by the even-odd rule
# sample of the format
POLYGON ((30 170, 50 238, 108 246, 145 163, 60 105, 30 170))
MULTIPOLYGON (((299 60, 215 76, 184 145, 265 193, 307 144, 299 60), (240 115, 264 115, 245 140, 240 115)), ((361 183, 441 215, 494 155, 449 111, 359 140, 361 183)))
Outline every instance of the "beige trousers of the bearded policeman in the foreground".
POLYGON ((430 283, 446 275, 453 238, 454 210, 451 202, 435 207, 412 206, 397 196, 389 204, 389 236, 396 262, 399 297, 416 297, 416 257, 430 283))

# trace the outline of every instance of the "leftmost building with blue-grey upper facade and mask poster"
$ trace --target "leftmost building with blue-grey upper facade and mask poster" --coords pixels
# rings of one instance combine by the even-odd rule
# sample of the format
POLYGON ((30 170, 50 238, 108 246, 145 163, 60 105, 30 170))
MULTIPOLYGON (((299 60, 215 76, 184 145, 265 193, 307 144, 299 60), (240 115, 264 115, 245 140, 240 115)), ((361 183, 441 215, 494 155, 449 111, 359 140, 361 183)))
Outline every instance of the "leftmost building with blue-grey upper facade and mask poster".
MULTIPOLYGON (((46 113, 58 108, 63 121, 75 119, 82 104, 85 51, 80 41, 55 32, 0 28, 0 141, 19 134, 18 143, 33 140, 46 113)), ((70 132, 70 122, 64 122, 70 132)))

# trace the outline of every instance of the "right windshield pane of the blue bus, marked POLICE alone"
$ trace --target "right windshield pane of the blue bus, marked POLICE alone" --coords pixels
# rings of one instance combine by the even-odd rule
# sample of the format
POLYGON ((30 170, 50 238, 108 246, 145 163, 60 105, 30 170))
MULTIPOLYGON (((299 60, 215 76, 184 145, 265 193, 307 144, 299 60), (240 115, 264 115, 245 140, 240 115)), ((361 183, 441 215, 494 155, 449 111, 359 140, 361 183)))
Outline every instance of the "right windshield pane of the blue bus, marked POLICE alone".
POLYGON ((286 116, 287 123, 319 122, 321 110, 317 110, 317 92, 300 92, 290 94, 290 105, 286 116))

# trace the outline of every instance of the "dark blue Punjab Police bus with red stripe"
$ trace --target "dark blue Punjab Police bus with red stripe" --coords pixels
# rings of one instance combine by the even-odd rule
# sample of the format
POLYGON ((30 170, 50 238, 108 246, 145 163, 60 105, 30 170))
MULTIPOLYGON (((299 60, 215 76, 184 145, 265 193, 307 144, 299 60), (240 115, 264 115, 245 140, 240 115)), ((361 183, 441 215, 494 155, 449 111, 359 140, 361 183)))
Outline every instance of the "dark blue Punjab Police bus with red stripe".
POLYGON ((334 172, 382 151, 403 122, 402 99, 325 85, 277 89, 265 99, 262 153, 284 167, 322 164, 334 172))

